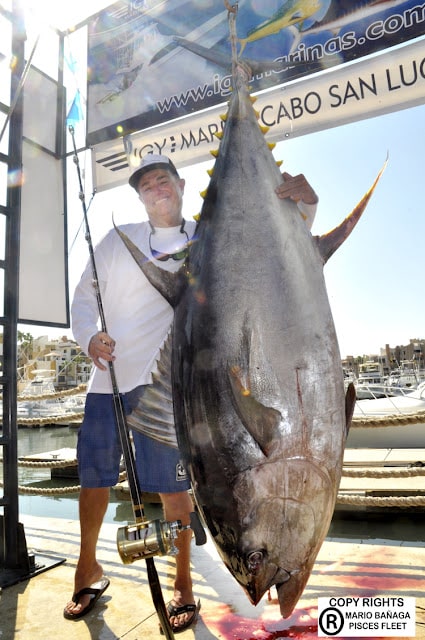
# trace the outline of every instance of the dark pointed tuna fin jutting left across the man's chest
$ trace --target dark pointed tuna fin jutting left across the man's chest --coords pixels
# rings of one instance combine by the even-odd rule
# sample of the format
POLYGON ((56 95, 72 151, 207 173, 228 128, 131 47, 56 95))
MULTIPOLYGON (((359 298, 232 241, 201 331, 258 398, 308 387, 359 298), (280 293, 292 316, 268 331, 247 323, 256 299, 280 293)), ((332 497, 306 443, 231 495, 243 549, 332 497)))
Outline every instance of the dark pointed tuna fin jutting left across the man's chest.
POLYGON ((176 273, 171 273, 169 271, 165 271, 165 269, 157 267, 156 264, 151 262, 149 258, 147 258, 145 254, 136 247, 127 234, 116 226, 115 222, 113 222, 113 225, 115 227, 115 231, 118 233, 119 237, 124 242, 125 246, 151 285, 155 287, 162 296, 164 296, 173 308, 175 308, 180 301, 187 284, 184 266, 176 273))

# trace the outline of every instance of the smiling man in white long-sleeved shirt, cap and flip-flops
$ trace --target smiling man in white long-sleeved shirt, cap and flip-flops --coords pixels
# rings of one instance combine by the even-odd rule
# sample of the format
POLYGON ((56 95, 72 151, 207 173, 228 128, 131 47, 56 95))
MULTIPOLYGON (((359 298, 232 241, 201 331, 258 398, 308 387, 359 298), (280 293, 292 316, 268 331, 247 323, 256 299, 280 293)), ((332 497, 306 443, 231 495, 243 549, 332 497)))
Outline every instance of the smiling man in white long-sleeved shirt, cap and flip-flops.
MULTIPOLYGON (((304 176, 283 174, 276 190, 280 198, 292 198, 311 226, 317 196, 304 176)), ((148 214, 148 222, 123 225, 128 237, 159 267, 176 271, 195 230, 195 222, 182 216, 185 182, 165 156, 148 155, 129 180, 148 214)), ((92 609, 109 586, 96 559, 96 544, 108 505, 109 487, 118 479, 120 446, 115 426, 112 388, 107 362, 114 362, 120 392, 130 410, 140 389, 152 382, 152 372, 173 319, 165 299, 148 282, 115 230, 95 251, 96 271, 108 333, 98 331, 98 306, 89 264, 76 288, 72 303, 72 328, 83 351, 95 364, 89 384, 85 417, 81 425, 77 457, 81 483, 80 557, 75 573, 73 599, 64 616, 80 618, 92 609)), ((189 482, 181 473, 178 450, 134 431, 136 468, 142 490, 159 493, 167 521, 190 522, 193 505, 189 482)), ((190 575, 191 531, 178 535, 174 595, 168 606, 174 632, 195 620, 190 575)))

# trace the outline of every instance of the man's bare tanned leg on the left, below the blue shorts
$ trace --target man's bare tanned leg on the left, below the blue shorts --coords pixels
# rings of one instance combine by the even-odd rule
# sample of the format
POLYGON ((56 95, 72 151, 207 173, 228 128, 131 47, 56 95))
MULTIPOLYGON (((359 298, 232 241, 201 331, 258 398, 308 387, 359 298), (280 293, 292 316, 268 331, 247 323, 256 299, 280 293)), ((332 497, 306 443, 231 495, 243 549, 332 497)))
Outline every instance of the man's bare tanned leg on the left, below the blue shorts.
MULTIPOLYGON (((90 587, 100 580, 103 575, 101 565, 96 560, 96 545, 100 527, 109 502, 109 488, 81 489, 80 492, 80 557, 75 571, 74 593, 85 587, 90 587)), ((90 596, 81 597, 78 604, 67 603, 65 611, 71 614, 79 613, 90 602, 90 596)))

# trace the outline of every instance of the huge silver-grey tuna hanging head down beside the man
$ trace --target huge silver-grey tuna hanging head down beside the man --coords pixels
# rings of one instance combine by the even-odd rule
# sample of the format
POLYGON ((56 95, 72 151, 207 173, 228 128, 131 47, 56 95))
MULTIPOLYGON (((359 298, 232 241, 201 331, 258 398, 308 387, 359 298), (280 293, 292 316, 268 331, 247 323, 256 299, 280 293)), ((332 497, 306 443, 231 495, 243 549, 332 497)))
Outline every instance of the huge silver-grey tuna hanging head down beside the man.
POLYGON ((123 240, 176 309, 174 410, 199 510, 251 602, 275 585, 287 617, 329 528, 355 402, 353 387, 344 393, 323 265, 379 176, 339 227, 312 237, 295 203, 275 193, 282 177, 250 73, 233 66, 224 135, 181 272, 158 269, 123 240))

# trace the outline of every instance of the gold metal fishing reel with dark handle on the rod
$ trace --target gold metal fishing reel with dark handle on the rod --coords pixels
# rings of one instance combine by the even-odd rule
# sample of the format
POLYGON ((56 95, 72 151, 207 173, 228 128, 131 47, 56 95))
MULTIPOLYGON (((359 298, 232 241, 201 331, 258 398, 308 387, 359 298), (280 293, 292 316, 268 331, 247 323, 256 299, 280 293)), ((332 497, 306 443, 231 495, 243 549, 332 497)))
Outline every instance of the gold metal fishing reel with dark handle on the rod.
POLYGON ((118 553, 124 564, 154 556, 175 556, 178 553, 175 545, 177 536, 187 529, 194 531, 196 545, 205 544, 207 538, 196 512, 190 514, 190 524, 185 526, 180 520, 150 520, 120 527, 117 531, 118 553))

